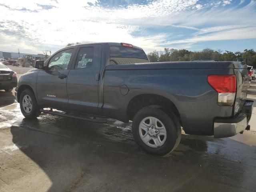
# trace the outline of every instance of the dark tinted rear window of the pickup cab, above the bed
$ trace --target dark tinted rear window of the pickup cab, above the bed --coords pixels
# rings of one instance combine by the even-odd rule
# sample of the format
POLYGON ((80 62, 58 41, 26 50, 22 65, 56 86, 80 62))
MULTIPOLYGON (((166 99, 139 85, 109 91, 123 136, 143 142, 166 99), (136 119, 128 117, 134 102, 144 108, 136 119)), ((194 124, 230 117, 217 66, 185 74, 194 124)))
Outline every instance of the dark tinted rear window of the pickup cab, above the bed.
POLYGON ((110 65, 147 63, 145 52, 141 49, 126 46, 110 46, 110 65))

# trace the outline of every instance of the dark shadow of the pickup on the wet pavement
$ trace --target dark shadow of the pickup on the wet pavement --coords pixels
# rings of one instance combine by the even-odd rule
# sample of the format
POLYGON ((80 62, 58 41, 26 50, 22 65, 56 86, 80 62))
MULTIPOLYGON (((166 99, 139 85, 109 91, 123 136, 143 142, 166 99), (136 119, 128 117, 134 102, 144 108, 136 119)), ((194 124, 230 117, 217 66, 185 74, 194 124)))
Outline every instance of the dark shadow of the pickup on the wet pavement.
POLYGON ((115 120, 94 124, 43 115, 18 120, 11 133, 50 178, 49 192, 254 189, 256 148, 231 138, 182 134, 178 148, 164 158, 143 152, 130 124, 115 120))

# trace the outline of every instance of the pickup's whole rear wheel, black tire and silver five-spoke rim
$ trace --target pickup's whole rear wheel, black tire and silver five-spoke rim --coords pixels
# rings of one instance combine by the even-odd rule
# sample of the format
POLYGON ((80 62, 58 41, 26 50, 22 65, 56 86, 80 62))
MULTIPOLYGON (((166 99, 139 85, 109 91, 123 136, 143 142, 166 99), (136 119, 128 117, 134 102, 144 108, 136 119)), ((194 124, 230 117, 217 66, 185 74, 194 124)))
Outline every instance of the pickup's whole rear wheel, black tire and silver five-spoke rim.
POLYGON ((146 152, 164 156, 180 143, 181 126, 172 113, 156 106, 139 110, 132 122, 132 133, 137 144, 146 152))

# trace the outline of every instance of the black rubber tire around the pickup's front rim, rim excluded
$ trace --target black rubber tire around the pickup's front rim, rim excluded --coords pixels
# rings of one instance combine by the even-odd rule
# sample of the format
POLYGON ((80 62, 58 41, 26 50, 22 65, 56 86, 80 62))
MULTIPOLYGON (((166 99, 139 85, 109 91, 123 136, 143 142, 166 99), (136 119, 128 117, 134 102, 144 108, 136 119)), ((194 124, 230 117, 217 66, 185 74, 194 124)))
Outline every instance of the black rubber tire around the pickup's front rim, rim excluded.
POLYGON ((38 106, 38 104, 36 102, 35 95, 30 89, 25 89, 20 94, 20 110, 21 110, 23 116, 28 119, 36 118, 41 114, 40 107, 38 106), (25 95, 30 96, 31 101, 32 101, 32 109, 30 110, 30 112, 26 112, 22 106, 22 103, 23 103, 22 100, 25 95))

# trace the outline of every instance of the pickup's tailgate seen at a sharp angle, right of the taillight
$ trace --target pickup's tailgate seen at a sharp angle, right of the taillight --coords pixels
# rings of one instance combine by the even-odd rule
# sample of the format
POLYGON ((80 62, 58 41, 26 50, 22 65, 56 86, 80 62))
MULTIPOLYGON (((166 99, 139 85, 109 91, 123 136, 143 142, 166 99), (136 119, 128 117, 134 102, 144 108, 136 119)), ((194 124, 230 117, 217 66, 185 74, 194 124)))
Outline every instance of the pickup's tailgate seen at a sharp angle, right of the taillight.
POLYGON ((234 69, 236 74, 236 101, 234 106, 234 115, 242 110, 247 97, 247 88, 249 83, 249 76, 247 66, 245 64, 239 64, 234 69))

